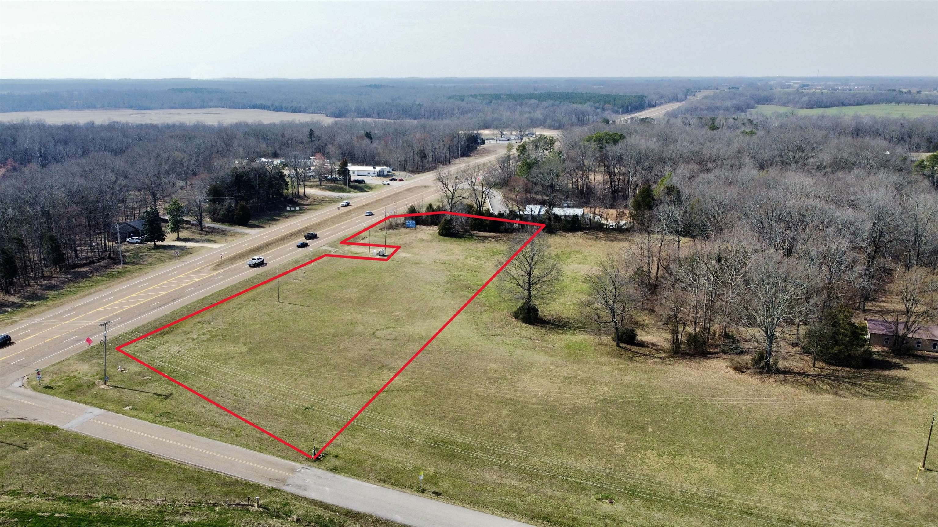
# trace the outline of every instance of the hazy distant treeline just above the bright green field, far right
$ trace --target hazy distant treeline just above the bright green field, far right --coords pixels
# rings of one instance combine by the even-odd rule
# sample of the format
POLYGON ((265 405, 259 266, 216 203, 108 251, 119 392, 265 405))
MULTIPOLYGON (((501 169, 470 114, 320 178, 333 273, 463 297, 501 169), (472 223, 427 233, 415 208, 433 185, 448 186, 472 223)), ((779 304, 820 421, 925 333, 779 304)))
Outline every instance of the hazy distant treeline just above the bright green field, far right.
POLYGON ((839 108, 862 104, 938 104, 938 93, 888 91, 815 91, 741 89, 720 91, 688 101, 672 115, 731 115, 752 110, 757 104, 790 108, 839 108))

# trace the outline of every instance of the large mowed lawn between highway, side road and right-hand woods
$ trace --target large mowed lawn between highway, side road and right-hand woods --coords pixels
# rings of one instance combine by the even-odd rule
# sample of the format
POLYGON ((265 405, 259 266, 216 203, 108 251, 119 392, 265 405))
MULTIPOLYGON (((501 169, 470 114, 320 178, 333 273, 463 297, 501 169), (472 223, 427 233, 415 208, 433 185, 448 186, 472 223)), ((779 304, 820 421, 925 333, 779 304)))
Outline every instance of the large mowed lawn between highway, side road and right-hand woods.
MULTIPOLYGON (((505 259, 501 235, 387 236, 402 246, 389 262, 325 259, 282 279, 280 303, 268 284, 128 349, 298 447, 321 446, 505 259)), ((543 524, 938 520, 938 473, 914 481, 938 362, 767 378, 725 356, 662 353, 651 318, 645 346, 617 350, 581 303, 584 273, 625 237, 550 239, 565 266, 562 294, 542 306, 551 324, 520 324, 491 286, 317 466, 413 491, 422 472, 441 499, 543 524)), ((61 397, 298 458, 125 357, 109 368, 121 388, 95 387, 98 350, 43 374, 61 397)))

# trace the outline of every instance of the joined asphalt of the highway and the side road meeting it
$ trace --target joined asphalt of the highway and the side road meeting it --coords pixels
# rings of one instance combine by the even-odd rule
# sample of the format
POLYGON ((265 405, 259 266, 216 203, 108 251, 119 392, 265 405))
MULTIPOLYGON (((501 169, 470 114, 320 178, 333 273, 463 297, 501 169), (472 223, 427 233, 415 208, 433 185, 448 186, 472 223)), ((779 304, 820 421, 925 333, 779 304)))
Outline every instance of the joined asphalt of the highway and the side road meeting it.
MULTIPOLYGON (((454 165, 486 162, 503 154, 500 149, 493 150, 485 149, 480 155, 460 159, 454 165)), ((404 183, 392 183, 358 194, 352 198, 350 207, 325 207, 265 229, 244 230, 248 235, 242 239, 179 262, 164 264, 143 275, 115 280, 104 288, 76 296, 45 312, 28 317, 16 316, 15 313, 4 317, 0 322, 0 333, 9 333, 14 342, 0 348, 0 385, 7 386, 0 389, 0 418, 36 420, 71 429, 163 458, 406 525, 525 525, 423 495, 332 474, 309 464, 268 456, 36 393, 23 386, 24 376, 86 348, 85 339, 92 339, 97 344, 103 337, 103 328, 98 325, 102 322, 111 323, 108 325, 110 334, 122 333, 242 279, 265 273, 270 265, 295 259, 302 251, 336 242, 381 218, 385 207, 388 215, 401 214, 411 204, 431 201, 438 194, 433 175, 432 172, 417 174, 404 183), (375 211, 375 216, 364 216, 366 210, 375 211), (309 248, 296 248, 296 242, 307 231, 316 232, 319 237, 310 240, 309 248), (266 269, 250 268, 245 264, 255 254, 265 257, 266 269)), ((113 350, 113 343, 109 347, 113 350)))

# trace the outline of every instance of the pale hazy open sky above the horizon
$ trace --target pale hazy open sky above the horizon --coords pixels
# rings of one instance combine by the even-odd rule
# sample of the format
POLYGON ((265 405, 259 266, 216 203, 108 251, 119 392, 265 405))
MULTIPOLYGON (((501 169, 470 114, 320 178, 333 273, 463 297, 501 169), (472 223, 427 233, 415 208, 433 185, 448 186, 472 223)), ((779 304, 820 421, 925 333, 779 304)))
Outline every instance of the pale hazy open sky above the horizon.
POLYGON ((938 1, 0 0, 0 78, 938 75, 938 1))

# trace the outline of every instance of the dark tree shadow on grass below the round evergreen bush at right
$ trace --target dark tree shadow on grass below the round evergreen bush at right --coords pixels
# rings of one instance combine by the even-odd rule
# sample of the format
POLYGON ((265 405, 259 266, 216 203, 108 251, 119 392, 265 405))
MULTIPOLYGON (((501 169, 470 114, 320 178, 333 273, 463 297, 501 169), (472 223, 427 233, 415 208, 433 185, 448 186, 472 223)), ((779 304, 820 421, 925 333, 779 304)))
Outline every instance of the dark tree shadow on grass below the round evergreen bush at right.
POLYGON ((862 399, 913 400, 930 389, 928 384, 882 369, 789 369, 779 372, 778 377, 785 384, 862 399))

